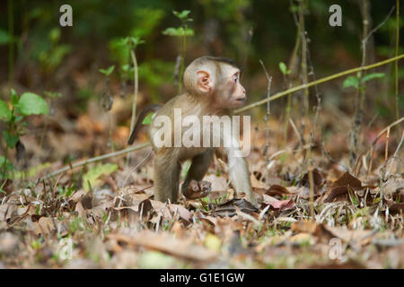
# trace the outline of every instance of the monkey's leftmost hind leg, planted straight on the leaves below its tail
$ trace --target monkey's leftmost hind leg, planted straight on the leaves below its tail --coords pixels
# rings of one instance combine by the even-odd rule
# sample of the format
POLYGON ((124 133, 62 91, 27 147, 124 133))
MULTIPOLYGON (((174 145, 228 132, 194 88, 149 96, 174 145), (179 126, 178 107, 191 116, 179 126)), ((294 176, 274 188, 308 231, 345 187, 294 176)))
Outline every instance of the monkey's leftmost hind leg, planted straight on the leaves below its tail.
POLYGON ((175 152, 161 152, 154 157, 154 200, 175 203, 178 198, 181 165, 175 152))

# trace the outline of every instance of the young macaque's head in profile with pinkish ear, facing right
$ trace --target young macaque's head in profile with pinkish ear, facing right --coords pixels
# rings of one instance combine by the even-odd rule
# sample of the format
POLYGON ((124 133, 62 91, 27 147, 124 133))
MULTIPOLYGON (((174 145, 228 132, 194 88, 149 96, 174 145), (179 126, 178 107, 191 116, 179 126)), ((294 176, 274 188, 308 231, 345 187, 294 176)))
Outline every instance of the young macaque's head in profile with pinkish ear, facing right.
POLYGON ((184 87, 218 109, 240 107, 247 99, 240 69, 224 57, 198 57, 185 70, 184 87))

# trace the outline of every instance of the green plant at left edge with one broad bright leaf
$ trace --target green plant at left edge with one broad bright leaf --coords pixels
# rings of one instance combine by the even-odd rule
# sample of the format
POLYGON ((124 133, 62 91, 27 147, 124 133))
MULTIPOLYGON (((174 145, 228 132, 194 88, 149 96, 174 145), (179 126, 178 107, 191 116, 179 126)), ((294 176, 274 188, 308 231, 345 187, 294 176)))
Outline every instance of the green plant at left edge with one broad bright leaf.
POLYGON ((4 101, 0 100, 0 120, 3 121, 7 128, 3 131, 2 137, 5 143, 4 156, 0 155, 0 164, 2 167, 1 178, 9 178, 10 171, 14 170, 13 165, 8 161, 8 150, 16 148, 17 158, 19 149, 23 147, 20 142, 20 136, 25 133, 27 123, 26 117, 30 115, 48 114, 48 103, 39 95, 32 92, 24 92, 21 97, 13 89, 11 90, 11 108, 4 101))

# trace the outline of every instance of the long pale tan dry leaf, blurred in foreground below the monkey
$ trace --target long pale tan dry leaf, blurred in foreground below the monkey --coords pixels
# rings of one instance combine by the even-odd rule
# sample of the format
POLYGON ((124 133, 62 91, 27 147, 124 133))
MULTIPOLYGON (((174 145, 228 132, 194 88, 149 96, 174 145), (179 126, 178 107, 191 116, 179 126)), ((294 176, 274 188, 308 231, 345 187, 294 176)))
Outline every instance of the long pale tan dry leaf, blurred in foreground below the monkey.
POLYGON ((214 250, 195 245, 190 240, 176 239, 168 233, 155 233, 150 230, 143 230, 133 237, 125 234, 110 234, 107 237, 190 260, 210 261, 217 256, 214 250))

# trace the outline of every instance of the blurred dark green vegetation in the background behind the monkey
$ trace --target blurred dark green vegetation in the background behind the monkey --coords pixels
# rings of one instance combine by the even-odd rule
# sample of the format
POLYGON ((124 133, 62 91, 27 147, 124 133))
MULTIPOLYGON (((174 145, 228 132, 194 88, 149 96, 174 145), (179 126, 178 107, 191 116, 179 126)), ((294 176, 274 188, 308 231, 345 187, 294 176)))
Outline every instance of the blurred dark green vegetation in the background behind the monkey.
MULTIPOLYGON (((394 0, 370 1, 371 27, 382 22, 395 4, 394 0)), ((63 115, 57 114, 56 117, 74 120, 88 112, 89 100, 100 100, 105 94, 111 102, 119 97, 130 102, 134 85, 133 66, 130 47, 122 45, 122 39, 127 37, 144 41, 136 46, 138 109, 175 96, 178 91, 176 59, 181 53, 182 43, 179 37, 163 32, 181 25, 173 11, 189 10, 188 17, 193 20, 186 22, 189 36, 185 65, 203 55, 233 58, 242 67, 242 83, 248 91, 249 103, 264 99, 267 93, 267 78, 259 59, 265 63, 268 74, 273 76, 272 93, 285 90, 291 83, 302 83, 298 69, 292 71, 294 75, 287 81, 279 69, 281 62, 291 70, 294 70, 294 63, 300 63, 300 53, 296 54, 297 62, 292 59, 298 38, 294 21, 299 9, 296 1, 11 0, 2 1, 0 8, 0 99, 9 99, 10 87, 19 93, 34 91, 51 103, 51 115, 52 110, 57 113, 55 109, 63 107, 63 115), (73 7, 73 27, 59 25, 62 4, 73 7), (115 66, 111 73, 99 72, 111 65, 115 66)), ((303 13, 310 53, 308 64, 314 71, 314 74, 309 74, 309 81, 314 76, 321 78, 361 65, 361 1, 310 0, 303 13), (342 7, 342 27, 329 26, 331 4, 342 7)), ((400 15, 404 15, 402 9, 400 15)), ((401 27, 403 23, 401 16, 401 27)), ((365 64, 394 57, 395 27, 394 12, 369 39, 365 64)), ((402 30, 400 34, 404 34, 402 30)), ((399 54, 403 52, 400 48, 399 54)), ((383 65, 376 71, 385 73, 385 77, 368 85, 364 122, 377 115, 383 119, 383 125, 395 119, 394 64, 383 65)), ((400 65, 401 82, 403 77, 404 67, 400 65)), ((352 100, 356 91, 343 88, 343 81, 341 78, 325 83, 318 89, 325 110, 336 109, 352 118, 352 100)), ((401 115, 404 109, 402 99, 401 89, 401 115)), ((293 97, 293 100, 294 106, 299 106, 299 98, 293 97)), ((311 91, 310 102, 313 107, 315 92, 311 91)), ((285 103, 286 97, 273 102, 272 113, 277 118, 285 118, 285 103)), ((130 105, 116 115, 118 126, 128 126, 130 105)), ((249 113, 261 120, 265 109, 261 106, 249 113)))

